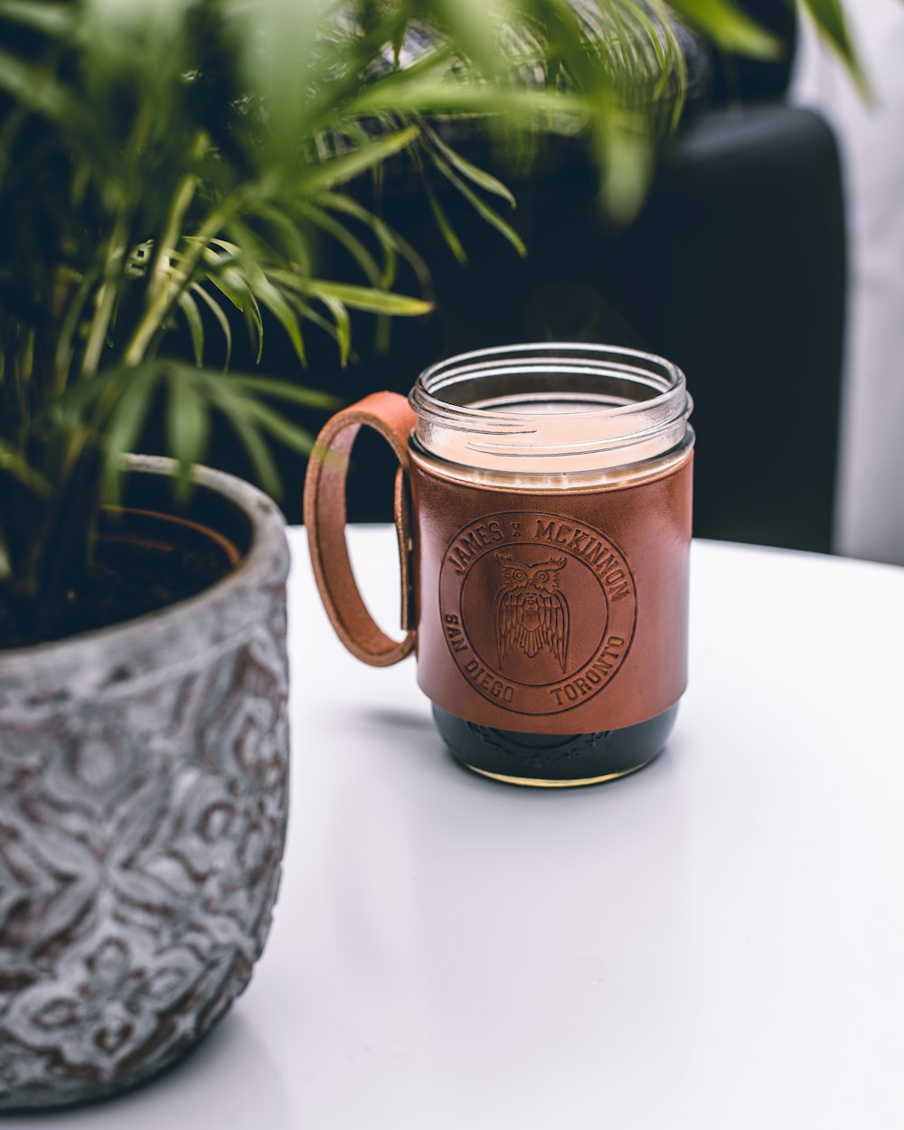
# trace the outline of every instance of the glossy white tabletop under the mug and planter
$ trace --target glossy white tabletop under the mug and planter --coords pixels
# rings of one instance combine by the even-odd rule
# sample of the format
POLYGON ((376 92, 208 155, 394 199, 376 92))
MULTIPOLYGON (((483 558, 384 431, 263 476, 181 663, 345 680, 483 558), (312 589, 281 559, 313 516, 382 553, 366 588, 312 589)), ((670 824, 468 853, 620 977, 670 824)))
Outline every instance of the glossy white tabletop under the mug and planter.
MULTIPOLYGON (((346 654, 290 536, 293 809, 251 986, 163 1079, 5 1125, 904 1125, 904 570, 695 544, 666 753, 531 790, 450 759, 412 660, 346 654)), ((392 539, 351 542, 386 623, 392 539)))

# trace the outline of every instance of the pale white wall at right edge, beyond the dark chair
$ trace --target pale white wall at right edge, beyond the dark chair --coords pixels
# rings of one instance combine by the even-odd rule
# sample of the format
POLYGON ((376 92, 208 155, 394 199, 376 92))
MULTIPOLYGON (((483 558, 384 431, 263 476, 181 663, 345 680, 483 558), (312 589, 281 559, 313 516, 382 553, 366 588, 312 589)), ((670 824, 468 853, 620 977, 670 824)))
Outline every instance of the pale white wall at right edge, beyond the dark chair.
POLYGON ((842 148, 849 223, 838 553, 904 564, 904 3, 844 3, 876 103, 805 28, 794 101, 842 148))

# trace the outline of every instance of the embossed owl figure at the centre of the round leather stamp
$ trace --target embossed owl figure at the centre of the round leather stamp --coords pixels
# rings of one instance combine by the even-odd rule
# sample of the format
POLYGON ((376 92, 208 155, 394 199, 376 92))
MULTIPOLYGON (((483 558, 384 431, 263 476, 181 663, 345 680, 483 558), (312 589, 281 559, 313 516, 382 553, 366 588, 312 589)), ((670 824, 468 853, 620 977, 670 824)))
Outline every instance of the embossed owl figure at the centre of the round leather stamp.
POLYGON ((559 592, 559 573, 565 557, 553 557, 539 565, 516 562, 508 554, 496 554, 502 565, 502 584, 493 603, 496 652, 499 668, 513 647, 529 659, 546 650, 565 673, 568 651, 568 602, 559 592))

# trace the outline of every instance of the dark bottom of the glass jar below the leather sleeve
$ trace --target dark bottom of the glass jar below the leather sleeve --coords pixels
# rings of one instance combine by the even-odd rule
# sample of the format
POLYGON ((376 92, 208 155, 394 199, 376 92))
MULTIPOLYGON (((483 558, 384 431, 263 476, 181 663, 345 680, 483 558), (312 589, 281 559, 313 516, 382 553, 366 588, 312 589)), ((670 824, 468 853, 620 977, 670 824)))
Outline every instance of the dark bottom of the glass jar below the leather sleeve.
POLYGON ((649 765, 675 725, 678 703, 654 718, 598 733, 516 733, 494 730, 434 705, 433 718, 452 756, 506 784, 570 788, 601 784, 649 765))

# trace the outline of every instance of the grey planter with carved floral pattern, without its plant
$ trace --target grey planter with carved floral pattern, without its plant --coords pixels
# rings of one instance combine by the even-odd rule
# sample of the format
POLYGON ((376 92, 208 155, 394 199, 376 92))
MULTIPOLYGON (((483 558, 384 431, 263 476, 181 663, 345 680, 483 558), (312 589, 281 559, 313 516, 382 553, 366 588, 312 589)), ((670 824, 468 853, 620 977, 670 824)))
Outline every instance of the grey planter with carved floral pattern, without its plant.
MULTIPOLYGON (((130 468, 155 487, 172 464, 130 468)), ((156 1074, 224 1015, 267 938, 288 547, 260 492, 198 476, 244 541, 231 575, 122 626, 0 652, 3 1110, 156 1074)))

